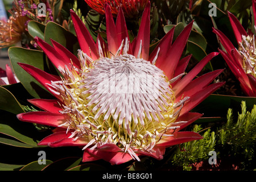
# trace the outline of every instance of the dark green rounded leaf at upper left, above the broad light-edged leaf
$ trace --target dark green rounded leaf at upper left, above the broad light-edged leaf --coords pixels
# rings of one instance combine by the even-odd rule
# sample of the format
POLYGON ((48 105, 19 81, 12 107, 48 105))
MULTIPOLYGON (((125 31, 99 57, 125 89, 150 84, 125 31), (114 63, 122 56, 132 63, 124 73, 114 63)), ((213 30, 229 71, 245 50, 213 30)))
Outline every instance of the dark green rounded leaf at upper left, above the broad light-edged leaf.
POLYGON ((71 51, 74 55, 77 55, 77 49, 79 49, 79 42, 74 34, 67 31, 64 27, 55 22, 48 22, 46 24, 46 30, 44 31, 44 40, 52 45, 51 40, 60 43, 62 46, 71 51))

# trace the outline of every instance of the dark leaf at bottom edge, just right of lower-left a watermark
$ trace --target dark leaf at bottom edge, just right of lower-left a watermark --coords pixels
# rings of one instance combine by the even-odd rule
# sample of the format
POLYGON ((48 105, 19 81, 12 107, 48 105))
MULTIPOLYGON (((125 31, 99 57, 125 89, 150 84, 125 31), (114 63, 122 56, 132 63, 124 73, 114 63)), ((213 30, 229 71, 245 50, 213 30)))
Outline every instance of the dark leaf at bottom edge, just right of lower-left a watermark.
POLYGON ((77 167, 81 161, 82 158, 77 157, 60 159, 49 164, 49 166, 44 168, 44 171, 67 171, 68 169, 77 167))

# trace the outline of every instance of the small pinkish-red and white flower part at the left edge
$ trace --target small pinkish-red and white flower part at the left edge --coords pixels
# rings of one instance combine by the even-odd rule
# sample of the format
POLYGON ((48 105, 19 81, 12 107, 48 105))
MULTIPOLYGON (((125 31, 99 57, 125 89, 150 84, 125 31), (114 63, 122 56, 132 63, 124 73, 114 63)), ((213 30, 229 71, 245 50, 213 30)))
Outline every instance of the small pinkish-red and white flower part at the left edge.
POLYGON ((0 85, 16 84, 19 82, 8 64, 5 65, 5 68, 6 70, 0 68, 0 85))

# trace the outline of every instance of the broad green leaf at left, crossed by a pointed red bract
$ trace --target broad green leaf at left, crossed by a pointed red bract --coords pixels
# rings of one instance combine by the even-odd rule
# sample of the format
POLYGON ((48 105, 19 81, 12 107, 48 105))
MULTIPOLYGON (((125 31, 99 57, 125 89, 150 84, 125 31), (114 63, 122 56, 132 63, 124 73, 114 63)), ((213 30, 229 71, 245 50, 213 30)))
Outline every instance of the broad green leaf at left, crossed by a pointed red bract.
POLYGON ((11 47, 8 50, 11 65, 15 75, 22 83, 27 92, 35 98, 51 98, 51 94, 38 82, 22 69, 17 63, 30 64, 45 71, 47 69, 46 57, 42 51, 25 49, 21 47, 11 47))

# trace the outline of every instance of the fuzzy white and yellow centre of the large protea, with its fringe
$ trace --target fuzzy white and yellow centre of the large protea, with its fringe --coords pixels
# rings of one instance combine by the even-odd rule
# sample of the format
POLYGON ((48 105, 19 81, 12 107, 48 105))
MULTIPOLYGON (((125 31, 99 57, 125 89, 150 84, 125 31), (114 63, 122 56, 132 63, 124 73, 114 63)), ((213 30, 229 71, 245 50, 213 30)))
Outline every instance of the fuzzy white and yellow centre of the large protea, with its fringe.
POLYGON ((63 80, 51 86, 63 98, 60 113, 70 117, 61 126, 73 130, 74 140, 88 141, 84 149, 114 143, 137 159, 136 151, 154 152, 172 136, 185 100, 174 103, 162 70, 127 53, 92 61, 79 51, 79 59, 81 70, 63 70, 63 80))

